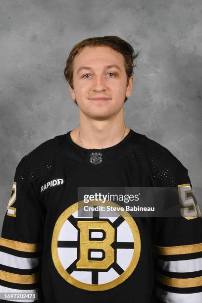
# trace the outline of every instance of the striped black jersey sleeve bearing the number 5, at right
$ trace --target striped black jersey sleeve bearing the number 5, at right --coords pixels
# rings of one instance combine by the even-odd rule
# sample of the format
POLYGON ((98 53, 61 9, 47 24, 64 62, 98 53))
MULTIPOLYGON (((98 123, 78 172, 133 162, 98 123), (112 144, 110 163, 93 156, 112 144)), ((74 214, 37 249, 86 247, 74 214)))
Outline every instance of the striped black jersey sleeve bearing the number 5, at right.
POLYGON ((160 302, 200 303, 202 217, 185 167, 177 180, 181 216, 153 218, 154 291, 160 302))

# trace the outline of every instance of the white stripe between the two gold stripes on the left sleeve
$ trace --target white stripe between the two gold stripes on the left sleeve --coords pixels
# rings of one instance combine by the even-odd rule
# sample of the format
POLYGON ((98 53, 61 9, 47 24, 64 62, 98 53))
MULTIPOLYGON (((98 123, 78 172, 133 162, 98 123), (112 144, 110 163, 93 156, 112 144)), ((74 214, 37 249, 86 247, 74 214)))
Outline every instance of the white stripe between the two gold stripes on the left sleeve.
POLYGON ((39 258, 22 258, 9 253, 0 252, 0 264, 19 269, 31 269, 39 264, 39 258))

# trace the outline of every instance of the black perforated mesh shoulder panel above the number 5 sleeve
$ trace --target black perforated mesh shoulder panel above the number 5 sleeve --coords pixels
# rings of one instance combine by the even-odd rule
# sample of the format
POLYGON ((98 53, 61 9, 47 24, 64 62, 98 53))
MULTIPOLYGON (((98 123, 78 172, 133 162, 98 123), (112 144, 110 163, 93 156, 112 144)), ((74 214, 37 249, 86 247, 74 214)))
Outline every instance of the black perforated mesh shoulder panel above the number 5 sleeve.
POLYGON ((134 142, 131 152, 118 161, 149 174, 156 187, 177 186, 180 174, 188 172, 171 152, 146 136, 134 142))

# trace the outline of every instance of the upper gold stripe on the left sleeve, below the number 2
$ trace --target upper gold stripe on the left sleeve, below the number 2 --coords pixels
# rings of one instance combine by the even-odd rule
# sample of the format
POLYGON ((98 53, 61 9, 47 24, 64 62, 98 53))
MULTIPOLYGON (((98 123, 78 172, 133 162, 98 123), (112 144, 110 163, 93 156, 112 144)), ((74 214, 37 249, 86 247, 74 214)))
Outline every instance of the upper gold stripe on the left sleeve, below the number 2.
POLYGON ((40 243, 23 243, 2 237, 0 238, 0 245, 20 252, 36 253, 40 251, 40 243))

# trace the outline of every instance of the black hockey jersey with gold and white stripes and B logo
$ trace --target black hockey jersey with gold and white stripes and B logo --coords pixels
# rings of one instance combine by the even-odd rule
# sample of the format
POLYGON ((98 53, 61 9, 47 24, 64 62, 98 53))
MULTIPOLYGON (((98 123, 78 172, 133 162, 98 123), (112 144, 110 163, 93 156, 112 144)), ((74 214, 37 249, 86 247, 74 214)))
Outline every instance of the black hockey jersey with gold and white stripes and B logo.
POLYGON ((40 303, 201 303, 197 204, 184 204, 195 211, 191 218, 101 218, 99 211, 83 218, 77 211, 79 187, 177 187, 190 199, 188 170, 132 129, 100 150, 78 146, 70 132, 16 168, 0 238, 2 302, 35 302, 38 293, 40 303), (33 296, 15 301, 11 293, 33 296))

